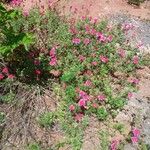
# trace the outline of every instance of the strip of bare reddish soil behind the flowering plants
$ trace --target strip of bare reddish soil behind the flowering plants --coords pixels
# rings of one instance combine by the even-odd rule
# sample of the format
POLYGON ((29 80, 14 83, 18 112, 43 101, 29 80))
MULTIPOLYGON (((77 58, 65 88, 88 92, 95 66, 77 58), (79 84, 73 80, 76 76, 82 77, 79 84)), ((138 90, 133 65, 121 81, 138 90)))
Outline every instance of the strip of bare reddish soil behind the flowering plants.
POLYGON ((41 11, 46 10, 48 6, 56 7, 61 15, 103 18, 124 13, 141 19, 150 19, 150 1, 137 7, 127 4, 127 0, 24 0, 22 8, 27 11, 35 5, 40 7, 41 11))

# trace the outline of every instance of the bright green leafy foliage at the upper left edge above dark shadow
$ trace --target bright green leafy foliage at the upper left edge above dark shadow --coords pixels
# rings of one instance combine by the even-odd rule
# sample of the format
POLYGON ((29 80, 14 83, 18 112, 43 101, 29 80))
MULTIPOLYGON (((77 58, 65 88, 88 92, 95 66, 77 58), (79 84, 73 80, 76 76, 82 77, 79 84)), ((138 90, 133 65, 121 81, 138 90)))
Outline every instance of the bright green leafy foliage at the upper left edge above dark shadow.
POLYGON ((19 50, 28 50, 28 46, 33 42, 33 36, 28 33, 20 32, 15 33, 11 25, 12 21, 21 17, 20 12, 17 10, 6 10, 2 4, 0 4, 0 54, 8 56, 20 46, 19 50))

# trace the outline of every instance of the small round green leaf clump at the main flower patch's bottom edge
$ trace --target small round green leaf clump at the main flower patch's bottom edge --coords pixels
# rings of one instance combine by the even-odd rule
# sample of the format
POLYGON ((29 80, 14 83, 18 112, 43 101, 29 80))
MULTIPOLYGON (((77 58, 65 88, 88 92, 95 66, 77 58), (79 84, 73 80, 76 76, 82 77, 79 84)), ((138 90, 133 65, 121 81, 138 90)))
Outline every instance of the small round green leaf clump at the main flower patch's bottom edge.
POLYGON ((97 117, 99 120, 106 120, 108 116, 108 112, 104 107, 100 107, 97 109, 97 117))

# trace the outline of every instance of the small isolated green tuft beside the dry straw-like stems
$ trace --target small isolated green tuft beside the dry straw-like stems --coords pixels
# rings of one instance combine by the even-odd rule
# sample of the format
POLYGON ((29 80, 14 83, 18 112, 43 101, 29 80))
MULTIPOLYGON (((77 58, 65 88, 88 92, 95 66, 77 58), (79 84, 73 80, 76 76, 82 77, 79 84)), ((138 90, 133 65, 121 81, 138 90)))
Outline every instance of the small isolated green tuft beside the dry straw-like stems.
POLYGON ((53 112, 45 112, 37 118, 37 121, 42 127, 51 127, 54 123, 54 114, 53 112))

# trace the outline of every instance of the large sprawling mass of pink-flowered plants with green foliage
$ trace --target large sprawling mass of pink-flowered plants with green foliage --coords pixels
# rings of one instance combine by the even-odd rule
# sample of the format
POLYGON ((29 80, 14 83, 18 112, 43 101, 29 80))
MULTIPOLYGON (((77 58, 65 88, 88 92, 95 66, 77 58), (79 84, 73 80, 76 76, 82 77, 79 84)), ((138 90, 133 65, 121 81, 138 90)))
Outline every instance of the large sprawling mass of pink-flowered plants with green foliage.
POLYGON ((0 55, 5 64, 0 68, 1 84, 8 79, 12 84, 51 83, 62 105, 56 118, 72 138, 82 134, 70 133, 65 126, 73 127, 70 120, 80 124, 87 115, 99 120, 115 117, 131 98, 141 64, 138 48, 124 36, 132 26, 111 26, 90 17, 63 20, 53 11, 7 11, 2 5, 0 15, 0 55))

